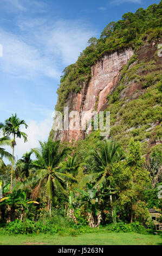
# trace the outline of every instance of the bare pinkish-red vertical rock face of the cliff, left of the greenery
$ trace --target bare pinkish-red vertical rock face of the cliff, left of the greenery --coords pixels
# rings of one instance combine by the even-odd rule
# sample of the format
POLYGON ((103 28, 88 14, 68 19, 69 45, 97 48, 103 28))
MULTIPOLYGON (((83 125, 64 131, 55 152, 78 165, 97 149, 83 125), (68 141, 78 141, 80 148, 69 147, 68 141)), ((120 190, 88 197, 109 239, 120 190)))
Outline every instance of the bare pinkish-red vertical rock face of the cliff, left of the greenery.
MULTIPOLYGON (((105 54, 102 59, 98 60, 91 68, 91 79, 88 84, 84 84, 79 94, 69 94, 67 106, 70 111, 87 113, 89 119, 93 111, 103 111, 107 107, 107 95, 112 92, 119 83, 120 70, 133 56, 133 50, 127 48, 125 50, 116 51, 111 54, 105 54)), ((61 141, 76 141, 84 139, 86 131, 75 129, 73 120, 69 118, 69 130, 55 132, 54 139, 61 141)))

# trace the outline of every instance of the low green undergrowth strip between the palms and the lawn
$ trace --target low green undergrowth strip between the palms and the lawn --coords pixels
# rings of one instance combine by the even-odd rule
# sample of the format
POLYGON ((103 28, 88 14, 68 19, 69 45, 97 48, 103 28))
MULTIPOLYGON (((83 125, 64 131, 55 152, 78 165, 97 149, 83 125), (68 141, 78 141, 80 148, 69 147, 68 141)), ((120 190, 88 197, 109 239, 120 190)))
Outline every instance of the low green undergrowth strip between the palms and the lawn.
POLYGON ((69 221, 66 217, 58 215, 55 218, 40 219, 37 222, 26 219, 24 221, 16 220, 5 224, 0 228, 0 235, 18 235, 18 234, 59 234, 76 236, 85 233, 139 233, 139 234, 154 234, 153 225, 145 229, 139 222, 132 223, 115 223, 100 226, 100 228, 90 228, 88 225, 76 225, 73 221, 69 221), (59 219, 62 219, 60 221, 59 219))

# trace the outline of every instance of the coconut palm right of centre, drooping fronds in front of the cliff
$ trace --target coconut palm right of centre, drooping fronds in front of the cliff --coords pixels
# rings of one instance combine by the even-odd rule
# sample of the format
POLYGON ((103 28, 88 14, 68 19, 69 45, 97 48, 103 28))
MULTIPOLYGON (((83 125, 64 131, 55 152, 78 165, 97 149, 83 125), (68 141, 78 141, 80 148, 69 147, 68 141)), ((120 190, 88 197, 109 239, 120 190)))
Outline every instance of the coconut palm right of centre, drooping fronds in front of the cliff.
MULTIPOLYGON (((121 146, 111 140, 104 140, 97 144, 96 149, 90 151, 88 160, 95 162, 95 169, 91 174, 86 175, 80 182, 80 187, 86 185, 87 182, 96 182, 95 188, 98 185, 106 187, 109 184, 108 177, 111 175, 113 163, 118 162, 125 158, 125 153, 121 146)), ((110 195, 111 206, 112 206, 112 194, 110 195)), ((113 208, 112 208, 113 214, 113 208)))

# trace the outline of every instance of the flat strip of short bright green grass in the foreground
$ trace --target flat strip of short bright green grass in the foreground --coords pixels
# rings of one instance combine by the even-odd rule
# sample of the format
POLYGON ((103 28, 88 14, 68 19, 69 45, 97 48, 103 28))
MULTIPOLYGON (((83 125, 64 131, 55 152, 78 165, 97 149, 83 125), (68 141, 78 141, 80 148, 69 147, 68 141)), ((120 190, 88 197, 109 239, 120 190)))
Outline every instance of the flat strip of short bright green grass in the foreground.
POLYGON ((162 239, 159 235, 137 233, 0 235, 0 245, 162 245, 162 239))

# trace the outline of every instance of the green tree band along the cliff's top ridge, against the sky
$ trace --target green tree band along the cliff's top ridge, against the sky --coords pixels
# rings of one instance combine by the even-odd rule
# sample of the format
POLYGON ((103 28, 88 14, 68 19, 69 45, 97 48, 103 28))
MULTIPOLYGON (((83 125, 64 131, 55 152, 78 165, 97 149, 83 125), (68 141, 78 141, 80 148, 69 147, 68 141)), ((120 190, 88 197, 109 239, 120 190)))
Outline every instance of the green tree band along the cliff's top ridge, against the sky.
POLYGON ((126 13, 122 20, 109 23, 99 39, 90 38, 89 46, 83 50, 75 64, 67 66, 57 89, 58 100, 55 109, 62 111, 69 93, 79 93, 91 77, 91 66, 103 54, 126 47, 137 48, 147 32, 153 38, 160 34, 162 2, 152 4, 146 10, 139 8, 135 14, 126 13))

